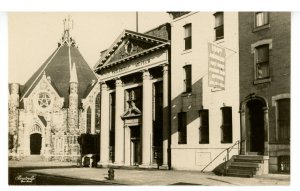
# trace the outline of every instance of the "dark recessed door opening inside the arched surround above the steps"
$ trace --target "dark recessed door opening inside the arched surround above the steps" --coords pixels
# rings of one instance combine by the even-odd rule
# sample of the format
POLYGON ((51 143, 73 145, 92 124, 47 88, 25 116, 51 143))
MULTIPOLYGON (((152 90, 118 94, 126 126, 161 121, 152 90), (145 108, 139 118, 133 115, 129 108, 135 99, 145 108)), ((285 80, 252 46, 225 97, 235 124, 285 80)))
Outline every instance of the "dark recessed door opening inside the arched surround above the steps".
POLYGON ((264 111, 260 100, 247 102, 246 152, 264 153, 264 111))

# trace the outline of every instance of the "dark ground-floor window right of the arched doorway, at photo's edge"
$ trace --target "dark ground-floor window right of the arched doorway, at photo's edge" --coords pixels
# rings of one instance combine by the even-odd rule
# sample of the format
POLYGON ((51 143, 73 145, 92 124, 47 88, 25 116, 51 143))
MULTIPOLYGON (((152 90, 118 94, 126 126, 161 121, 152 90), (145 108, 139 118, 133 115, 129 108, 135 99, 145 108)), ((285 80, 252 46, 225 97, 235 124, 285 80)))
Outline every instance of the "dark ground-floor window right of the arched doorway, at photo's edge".
POLYGON ((290 99, 277 100, 278 140, 290 140, 290 99))

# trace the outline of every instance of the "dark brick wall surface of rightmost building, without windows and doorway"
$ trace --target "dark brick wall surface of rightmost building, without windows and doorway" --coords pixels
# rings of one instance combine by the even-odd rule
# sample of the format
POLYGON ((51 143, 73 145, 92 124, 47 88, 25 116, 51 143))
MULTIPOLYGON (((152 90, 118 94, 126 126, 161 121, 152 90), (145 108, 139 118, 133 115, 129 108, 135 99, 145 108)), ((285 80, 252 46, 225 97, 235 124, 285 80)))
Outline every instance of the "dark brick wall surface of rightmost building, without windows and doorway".
MULTIPOLYGON (((254 13, 239 13, 240 101, 242 102, 250 93, 256 93, 267 99, 269 143, 272 144, 276 138, 276 110, 272 106, 272 96, 290 93, 291 14, 288 12, 270 12, 269 23, 269 28, 253 32, 254 13), (254 55, 251 53, 251 44, 264 39, 272 39, 272 50, 269 54, 271 82, 254 85, 254 55)), ((289 152, 289 145, 283 145, 283 147, 281 149, 289 152)), ((277 151, 274 150, 276 148, 270 146, 270 172, 277 171, 275 168, 277 166, 277 151), (275 161, 274 164, 272 161, 275 161)))

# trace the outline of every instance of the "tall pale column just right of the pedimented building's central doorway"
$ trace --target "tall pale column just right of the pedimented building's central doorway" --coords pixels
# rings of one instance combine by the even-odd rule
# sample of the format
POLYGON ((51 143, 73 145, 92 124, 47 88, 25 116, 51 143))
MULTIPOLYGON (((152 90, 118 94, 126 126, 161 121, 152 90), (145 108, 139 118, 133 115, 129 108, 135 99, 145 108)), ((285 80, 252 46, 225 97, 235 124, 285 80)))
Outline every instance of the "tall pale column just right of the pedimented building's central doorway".
POLYGON ((151 165, 152 150, 152 82, 148 70, 143 73, 142 167, 151 165))

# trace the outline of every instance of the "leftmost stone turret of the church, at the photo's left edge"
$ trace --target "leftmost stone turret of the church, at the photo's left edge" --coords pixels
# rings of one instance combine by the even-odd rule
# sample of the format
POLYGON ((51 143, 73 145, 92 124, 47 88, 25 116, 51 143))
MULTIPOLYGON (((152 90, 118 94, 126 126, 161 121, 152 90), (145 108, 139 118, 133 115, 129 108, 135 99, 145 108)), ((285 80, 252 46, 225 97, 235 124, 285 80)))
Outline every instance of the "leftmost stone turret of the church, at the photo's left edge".
POLYGON ((9 149, 10 154, 17 153, 17 137, 18 137, 18 107, 19 107, 19 88, 20 85, 12 83, 9 86, 9 149))

